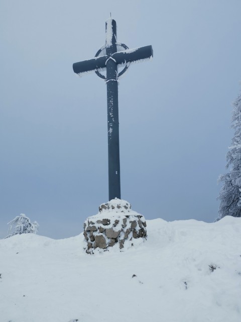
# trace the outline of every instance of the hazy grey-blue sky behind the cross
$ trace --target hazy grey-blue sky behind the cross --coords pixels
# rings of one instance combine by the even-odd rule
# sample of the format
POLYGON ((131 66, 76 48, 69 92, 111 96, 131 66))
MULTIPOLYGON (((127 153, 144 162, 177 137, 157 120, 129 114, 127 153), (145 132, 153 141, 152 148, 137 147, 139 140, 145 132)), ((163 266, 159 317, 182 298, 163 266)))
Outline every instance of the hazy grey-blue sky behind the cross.
POLYGON ((240 0, 1 0, 0 237, 25 213, 64 238, 108 201, 106 88, 77 61, 152 45, 119 83, 122 198, 147 219, 213 221, 241 80, 240 0))

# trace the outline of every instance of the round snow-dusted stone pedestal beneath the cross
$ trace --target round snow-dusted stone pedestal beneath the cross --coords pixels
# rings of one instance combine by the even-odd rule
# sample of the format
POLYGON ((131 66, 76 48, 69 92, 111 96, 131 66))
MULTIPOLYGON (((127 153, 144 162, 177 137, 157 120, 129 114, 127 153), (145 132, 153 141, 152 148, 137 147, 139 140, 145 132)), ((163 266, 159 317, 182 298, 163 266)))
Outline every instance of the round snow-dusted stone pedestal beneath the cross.
POLYGON ((125 243, 133 246, 135 239, 146 239, 146 226, 145 217, 133 211, 126 200, 115 198, 103 203, 97 215, 84 222, 86 253, 92 254, 96 248, 106 250, 116 244, 119 249, 123 249, 125 243))

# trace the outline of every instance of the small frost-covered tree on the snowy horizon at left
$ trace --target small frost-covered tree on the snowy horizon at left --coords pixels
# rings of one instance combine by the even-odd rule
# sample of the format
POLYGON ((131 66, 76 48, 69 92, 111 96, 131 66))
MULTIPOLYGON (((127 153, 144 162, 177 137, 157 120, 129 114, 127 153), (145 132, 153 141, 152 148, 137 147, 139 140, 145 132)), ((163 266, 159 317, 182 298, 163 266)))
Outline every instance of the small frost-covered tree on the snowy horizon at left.
POLYGON ((31 222, 24 213, 15 217, 8 225, 10 225, 10 227, 6 238, 22 233, 37 233, 39 227, 37 221, 31 222))

